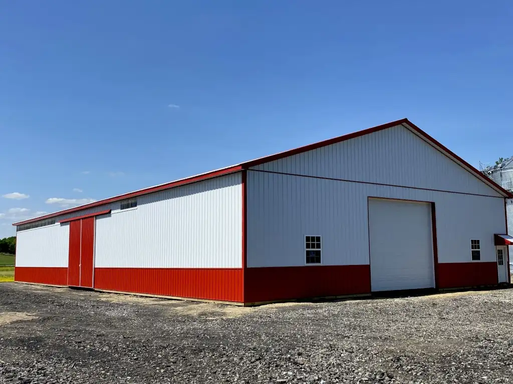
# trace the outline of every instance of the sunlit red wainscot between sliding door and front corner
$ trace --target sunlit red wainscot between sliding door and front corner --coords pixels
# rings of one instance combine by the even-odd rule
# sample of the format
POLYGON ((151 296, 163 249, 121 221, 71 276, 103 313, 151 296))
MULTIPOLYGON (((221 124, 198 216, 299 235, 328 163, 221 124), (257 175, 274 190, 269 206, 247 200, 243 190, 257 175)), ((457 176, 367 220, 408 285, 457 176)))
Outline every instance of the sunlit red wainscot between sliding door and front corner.
POLYGON ((94 288, 242 303, 239 268, 95 268, 94 288))

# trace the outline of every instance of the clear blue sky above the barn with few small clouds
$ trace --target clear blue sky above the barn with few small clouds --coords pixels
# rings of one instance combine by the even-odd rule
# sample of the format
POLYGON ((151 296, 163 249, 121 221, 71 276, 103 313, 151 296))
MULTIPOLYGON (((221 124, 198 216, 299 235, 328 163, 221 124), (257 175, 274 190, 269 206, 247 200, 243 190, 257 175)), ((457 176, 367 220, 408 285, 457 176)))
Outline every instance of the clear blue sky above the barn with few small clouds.
POLYGON ((513 155, 513 4, 420 3, 0 1, 0 238, 403 117, 513 155))

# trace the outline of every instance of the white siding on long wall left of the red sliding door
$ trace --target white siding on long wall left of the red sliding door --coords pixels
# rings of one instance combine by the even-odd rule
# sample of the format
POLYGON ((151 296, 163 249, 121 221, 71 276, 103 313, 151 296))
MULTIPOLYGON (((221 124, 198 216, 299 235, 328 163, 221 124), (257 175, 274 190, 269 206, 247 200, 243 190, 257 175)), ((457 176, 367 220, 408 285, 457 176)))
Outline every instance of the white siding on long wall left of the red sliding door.
POLYGON ((16 267, 67 267, 69 223, 16 232, 16 267))

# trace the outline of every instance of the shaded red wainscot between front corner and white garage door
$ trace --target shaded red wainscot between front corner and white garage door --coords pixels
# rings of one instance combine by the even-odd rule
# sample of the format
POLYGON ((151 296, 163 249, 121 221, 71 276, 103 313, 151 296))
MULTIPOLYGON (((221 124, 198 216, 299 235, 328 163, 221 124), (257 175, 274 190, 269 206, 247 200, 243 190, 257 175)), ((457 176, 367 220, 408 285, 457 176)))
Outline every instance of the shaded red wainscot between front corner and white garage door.
POLYGON ((245 270, 245 303, 369 293, 369 265, 264 267, 245 270))

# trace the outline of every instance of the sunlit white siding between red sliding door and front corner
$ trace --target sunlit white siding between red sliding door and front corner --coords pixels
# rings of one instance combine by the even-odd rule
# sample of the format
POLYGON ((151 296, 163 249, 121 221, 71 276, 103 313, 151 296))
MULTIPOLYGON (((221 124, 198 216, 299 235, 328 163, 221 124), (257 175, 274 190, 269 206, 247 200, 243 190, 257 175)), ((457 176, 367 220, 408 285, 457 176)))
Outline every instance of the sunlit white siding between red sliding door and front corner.
POLYGON ((137 197, 96 219, 96 267, 240 268, 241 174, 137 197))

